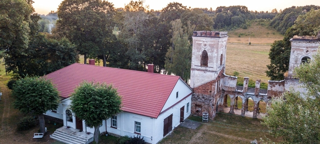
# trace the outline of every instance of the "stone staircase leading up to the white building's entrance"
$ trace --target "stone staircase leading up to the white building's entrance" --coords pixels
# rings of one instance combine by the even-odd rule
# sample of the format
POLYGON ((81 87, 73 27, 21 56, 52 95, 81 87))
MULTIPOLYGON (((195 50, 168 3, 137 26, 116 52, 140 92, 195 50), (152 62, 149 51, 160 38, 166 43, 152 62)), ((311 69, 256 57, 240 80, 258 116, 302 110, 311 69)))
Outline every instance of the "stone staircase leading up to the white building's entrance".
POLYGON ((60 127, 54 131, 50 138, 66 144, 89 144, 93 142, 93 134, 79 132, 78 129, 60 127))

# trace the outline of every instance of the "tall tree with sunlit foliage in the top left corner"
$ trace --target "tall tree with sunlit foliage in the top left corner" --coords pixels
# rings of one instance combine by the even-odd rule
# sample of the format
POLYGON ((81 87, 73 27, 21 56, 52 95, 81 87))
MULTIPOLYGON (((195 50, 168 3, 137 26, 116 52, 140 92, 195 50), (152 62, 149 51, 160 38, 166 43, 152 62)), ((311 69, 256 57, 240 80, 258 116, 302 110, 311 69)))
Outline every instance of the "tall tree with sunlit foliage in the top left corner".
POLYGON ((32 0, 0 1, 0 48, 1 57, 14 73, 23 73, 28 58, 28 44, 37 34, 40 17, 33 13, 32 0))

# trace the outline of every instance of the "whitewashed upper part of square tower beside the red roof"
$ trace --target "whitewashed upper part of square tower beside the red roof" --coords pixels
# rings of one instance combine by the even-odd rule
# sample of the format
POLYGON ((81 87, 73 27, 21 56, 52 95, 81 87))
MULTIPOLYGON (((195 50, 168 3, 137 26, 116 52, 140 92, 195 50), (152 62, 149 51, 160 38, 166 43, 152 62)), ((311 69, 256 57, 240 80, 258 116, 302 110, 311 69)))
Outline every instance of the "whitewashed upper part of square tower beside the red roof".
POLYGON ((216 80, 224 70, 228 36, 227 32, 195 31, 192 39, 190 86, 195 88, 216 80))

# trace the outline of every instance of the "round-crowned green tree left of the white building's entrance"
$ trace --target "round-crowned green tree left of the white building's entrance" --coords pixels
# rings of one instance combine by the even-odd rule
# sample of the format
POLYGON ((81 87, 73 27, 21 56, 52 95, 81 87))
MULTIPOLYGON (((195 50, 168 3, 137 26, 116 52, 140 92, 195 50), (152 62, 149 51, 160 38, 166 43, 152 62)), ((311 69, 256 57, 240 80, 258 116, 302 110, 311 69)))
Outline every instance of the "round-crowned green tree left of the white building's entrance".
POLYGON ((53 84, 45 78, 26 77, 16 82, 12 94, 16 97, 14 107, 38 116, 40 132, 46 133, 43 114, 59 105, 59 92, 53 84))

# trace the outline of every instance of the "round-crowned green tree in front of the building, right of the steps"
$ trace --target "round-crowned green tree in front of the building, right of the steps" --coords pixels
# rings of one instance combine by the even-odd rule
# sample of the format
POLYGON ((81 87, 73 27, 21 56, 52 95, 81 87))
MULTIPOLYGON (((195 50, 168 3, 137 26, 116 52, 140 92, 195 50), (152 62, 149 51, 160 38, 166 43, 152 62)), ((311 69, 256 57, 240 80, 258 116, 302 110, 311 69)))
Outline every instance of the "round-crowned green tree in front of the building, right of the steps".
POLYGON ((87 125, 95 128, 94 141, 99 142, 99 125, 121 110, 121 97, 112 85, 82 82, 71 95, 71 109, 87 125))

